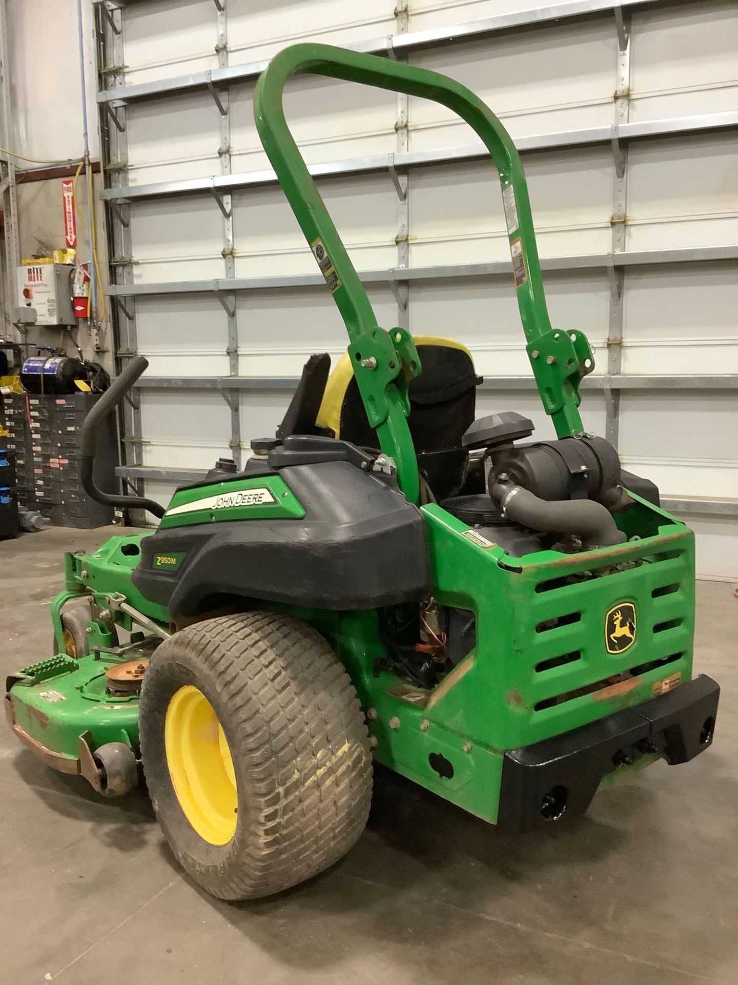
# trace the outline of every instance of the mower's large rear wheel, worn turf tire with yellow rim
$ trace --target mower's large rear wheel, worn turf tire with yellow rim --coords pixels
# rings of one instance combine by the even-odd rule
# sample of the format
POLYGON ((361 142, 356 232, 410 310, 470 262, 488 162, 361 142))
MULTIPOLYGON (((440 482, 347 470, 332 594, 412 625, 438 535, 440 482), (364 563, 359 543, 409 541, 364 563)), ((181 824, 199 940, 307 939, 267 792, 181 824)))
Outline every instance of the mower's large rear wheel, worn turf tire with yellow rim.
POLYGON ((169 846, 185 871, 221 899, 266 896, 310 879, 364 829, 372 767, 356 693, 323 636, 292 617, 222 616, 171 636, 144 678, 140 735, 169 846), (187 712, 193 699, 200 712, 187 712), (184 717, 177 717, 182 707, 184 717), (204 708, 210 718, 202 717, 204 708), (208 730, 213 738, 202 745, 208 730), (209 828, 201 808, 207 814, 214 770, 219 786, 211 799, 219 814, 211 812, 209 828))

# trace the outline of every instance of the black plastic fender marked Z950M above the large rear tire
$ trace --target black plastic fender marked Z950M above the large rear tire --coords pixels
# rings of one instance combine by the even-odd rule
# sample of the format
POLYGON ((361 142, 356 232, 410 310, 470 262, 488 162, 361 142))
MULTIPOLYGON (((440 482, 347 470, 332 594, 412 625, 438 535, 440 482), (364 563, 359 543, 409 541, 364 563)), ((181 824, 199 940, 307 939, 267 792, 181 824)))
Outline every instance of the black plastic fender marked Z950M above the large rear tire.
POLYGON ((303 519, 237 520, 157 531, 132 578, 173 622, 240 596, 316 609, 376 609, 431 594, 423 519, 393 482, 348 462, 279 470, 303 519), (154 554, 184 553, 174 571, 154 554))

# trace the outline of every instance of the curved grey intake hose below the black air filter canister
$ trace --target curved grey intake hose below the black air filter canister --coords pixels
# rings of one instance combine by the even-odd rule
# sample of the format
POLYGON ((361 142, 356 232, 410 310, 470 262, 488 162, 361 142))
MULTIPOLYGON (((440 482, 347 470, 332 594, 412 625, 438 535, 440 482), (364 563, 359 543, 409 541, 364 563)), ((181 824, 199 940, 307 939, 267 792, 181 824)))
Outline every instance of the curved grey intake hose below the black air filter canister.
POLYGON ((593 499, 541 499, 522 486, 498 482, 492 495, 522 527, 551 534, 575 534, 584 548, 612 547, 627 540, 610 513, 593 499))

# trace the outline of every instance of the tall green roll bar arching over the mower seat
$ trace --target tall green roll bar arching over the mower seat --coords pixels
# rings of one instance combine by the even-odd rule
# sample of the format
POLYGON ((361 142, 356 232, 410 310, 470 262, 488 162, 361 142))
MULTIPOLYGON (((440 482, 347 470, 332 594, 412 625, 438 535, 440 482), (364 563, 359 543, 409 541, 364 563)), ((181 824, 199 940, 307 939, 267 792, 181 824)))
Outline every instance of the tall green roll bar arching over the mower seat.
POLYGON ((551 328, 523 164, 495 114, 461 83, 437 72, 328 44, 294 44, 280 51, 259 78, 254 97, 256 126, 345 322, 348 353, 369 423, 376 429, 384 453, 396 461, 405 496, 417 502, 417 462, 406 417, 407 387, 420 372, 420 361, 408 332, 379 328, 366 291, 287 127, 282 108, 284 84, 292 75, 308 74, 434 99, 453 109, 476 131, 500 176, 526 351, 543 407, 559 437, 582 431, 579 384, 594 368, 592 353, 582 332, 551 328))

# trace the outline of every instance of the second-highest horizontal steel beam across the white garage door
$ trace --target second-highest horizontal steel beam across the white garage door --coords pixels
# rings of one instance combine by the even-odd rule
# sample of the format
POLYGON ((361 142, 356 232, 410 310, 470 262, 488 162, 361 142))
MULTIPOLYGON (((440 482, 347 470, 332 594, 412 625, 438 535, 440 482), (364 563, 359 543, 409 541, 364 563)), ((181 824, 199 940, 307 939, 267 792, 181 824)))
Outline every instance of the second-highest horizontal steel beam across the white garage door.
MULTIPOLYGON (((730 130, 735 127, 738 127, 738 111, 729 110, 697 116, 649 120, 644 123, 615 123, 614 127, 560 130, 538 136, 518 137, 515 145, 522 154, 569 147, 604 146, 611 144, 614 140, 622 147, 631 140, 639 140, 644 137, 674 137, 691 133, 730 130)), ((313 177, 317 178, 342 177, 346 174, 379 173, 388 169, 391 172, 394 170, 395 173, 399 173, 408 167, 428 164, 456 164, 489 159, 489 152, 479 142, 437 151, 404 151, 401 149, 400 141, 402 129, 404 128, 400 127, 398 130, 399 148, 394 154, 309 164, 308 169, 313 177)), ((143 199, 170 198, 173 195, 192 195, 203 192, 223 194, 240 188, 257 188, 275 184, 277 184, 275 172, 271 168, 264 168, 263 170, 242 171, 235 174, 224 173, 215 177, 158 181, 154 184, 134 185, 125 189, 105 188, 101 197, 109 201, 124 199, 126 202, 137 202, 143 199)))

